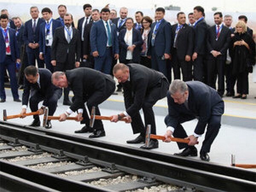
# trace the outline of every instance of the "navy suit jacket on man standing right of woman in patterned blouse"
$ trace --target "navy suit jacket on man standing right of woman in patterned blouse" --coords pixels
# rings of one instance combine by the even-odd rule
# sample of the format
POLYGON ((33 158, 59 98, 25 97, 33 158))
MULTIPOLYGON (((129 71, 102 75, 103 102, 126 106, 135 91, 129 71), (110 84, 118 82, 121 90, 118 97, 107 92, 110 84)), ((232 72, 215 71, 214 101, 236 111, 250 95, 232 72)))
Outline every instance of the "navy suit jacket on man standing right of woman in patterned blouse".
MULTIPOLYGON (((151 31, 148 36, 148 55, 151 55, 151 39, 152 39, 152 34, 154 33, 154 27, 156 26, 156 22, 154 22, 151 26, 151 31)), ((155 41, 154 41, 154 49, 156 51, 157 56, 162 57, 164 53, 171 53, 171 32, 172 32, 172 27, 169 22, 166 20, 162 20, 160 23, 157 33, 155 36, 155 41)))

